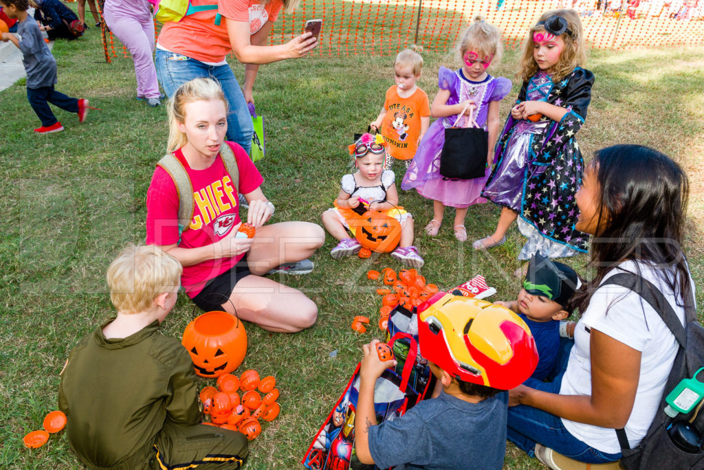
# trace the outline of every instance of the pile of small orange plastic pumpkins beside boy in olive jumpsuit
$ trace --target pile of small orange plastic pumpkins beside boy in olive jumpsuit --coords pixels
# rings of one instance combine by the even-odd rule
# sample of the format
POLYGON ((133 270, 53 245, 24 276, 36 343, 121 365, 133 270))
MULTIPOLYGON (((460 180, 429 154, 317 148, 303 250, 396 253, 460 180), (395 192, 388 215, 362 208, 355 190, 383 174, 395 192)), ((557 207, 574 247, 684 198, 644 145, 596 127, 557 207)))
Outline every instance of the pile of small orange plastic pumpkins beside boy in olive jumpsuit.
POLYGON ((260 379, 256 370, 249 369, 239 377, 222 374, 217 386, 201 390, 203 413, 210 417, 203 424, 239 431, 253 440, 262 431, 260 419, 272 421, 279 416, 279 389, 273 376, 260 379))

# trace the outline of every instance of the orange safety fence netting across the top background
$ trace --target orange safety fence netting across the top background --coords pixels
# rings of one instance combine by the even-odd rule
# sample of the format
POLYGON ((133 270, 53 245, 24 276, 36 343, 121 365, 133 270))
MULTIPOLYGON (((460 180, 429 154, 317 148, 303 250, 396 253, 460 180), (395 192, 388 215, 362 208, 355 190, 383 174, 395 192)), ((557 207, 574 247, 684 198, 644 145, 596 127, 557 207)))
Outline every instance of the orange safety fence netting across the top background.
MULTIPOLYGON (((482 15, 515 49, 541 13, 554 8, 578 11, 594 48, 704 44, 704 0, 303 0, 294 13, 279 15, 270 44, 288 42, 306 20, 321 18, 314 56, 392 55, 413 44, 447 52, 482 15)), ((106 61, 118 56, 110 32, 103 46, 106 61)), ((121 52, 127 57, 124 46, 121 52)))

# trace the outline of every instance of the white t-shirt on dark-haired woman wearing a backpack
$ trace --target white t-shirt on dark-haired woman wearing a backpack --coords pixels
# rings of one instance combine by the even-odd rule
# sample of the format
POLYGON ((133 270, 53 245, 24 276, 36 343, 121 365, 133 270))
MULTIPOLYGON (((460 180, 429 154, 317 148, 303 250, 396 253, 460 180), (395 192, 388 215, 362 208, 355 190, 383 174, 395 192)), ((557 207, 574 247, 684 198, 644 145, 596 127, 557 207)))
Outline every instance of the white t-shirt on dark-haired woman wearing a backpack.
MULTIPOLYGON (((660 288, 684 324, 684 308, 677 305, 678 302, 672 290, 658 279, 655 274, 656 269, 644 262, 639 262, 638 265, 641 268, 641 276, 660 288)), ((618 272, 637 273, 636 262, 623 262, 620 267, 612 269, 605 279, 618 272)), ((690 285, 694 288, 691 277, 690 285)), ((679 303, 682 303, 681 299, 679 303)), ((677 355, 677 340, 658 312, 655 312, 653 307, 650 307, 650 304, 637 293, 621 286, 600 287, 589 300, 589 307, 574 329, 574 347, 570 352, 565 375, 562 376, 560 395, 591 395, 589 329, 601 331, 616 341, 641 351, 641 374, 636 400, 625 427, 629 443, 633 448, 646 435, 655 412, 660 406, 662 392, 672 370, 674 357, 677 355)), ((572 436, 601 452, 609 454, 621 452, 616 431, 613 429, 577 423, 564 418, 562 424, 572 436)))

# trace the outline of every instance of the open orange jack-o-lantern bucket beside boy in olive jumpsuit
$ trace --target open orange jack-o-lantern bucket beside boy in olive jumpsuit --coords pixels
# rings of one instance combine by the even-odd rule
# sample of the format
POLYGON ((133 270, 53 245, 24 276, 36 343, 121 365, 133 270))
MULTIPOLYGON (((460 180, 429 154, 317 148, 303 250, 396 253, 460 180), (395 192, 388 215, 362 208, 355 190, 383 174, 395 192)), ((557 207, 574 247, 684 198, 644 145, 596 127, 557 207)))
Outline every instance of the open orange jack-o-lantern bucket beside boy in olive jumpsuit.
POLYGON ((244 325, 227 312, 206 312, 194 319, 186 326, 181 343, 201 377, 234 371, 247 352, 244 325))

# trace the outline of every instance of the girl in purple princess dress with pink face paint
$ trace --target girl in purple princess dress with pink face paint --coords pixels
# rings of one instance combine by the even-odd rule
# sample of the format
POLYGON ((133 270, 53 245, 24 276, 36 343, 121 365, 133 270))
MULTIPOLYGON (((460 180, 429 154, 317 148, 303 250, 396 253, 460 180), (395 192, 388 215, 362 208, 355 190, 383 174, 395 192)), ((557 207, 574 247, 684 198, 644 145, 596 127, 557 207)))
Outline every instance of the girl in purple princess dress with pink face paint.
POLYGON ((420 142, 401 188, 415 188, 421 196, 433 200, 433 218, 425 227, 426 234, 438 234, 445 206, 449 205, 456 210, 453 223, 455 238, 465 241, 467 209, 472 204, 486 202, 481 192, 491 173, 489 168, 500 125, 498 104, 510 91, 511 81, 492 77, 486 72, 491 62, 498 61, 501 56, 501 32, 496 27, 477 17, 460 37, 458 53, 464 66, 459 70, 440 68, 440 90, 430 109, 431 115, 440 119, 432 123, 420 142), (471 118, 489 132, 486 173, 476 179, 444 179, 440 174, 440 153, 445 143, 445 129, 455 126, 455 121, 456 127, 469 127, 471 118))

